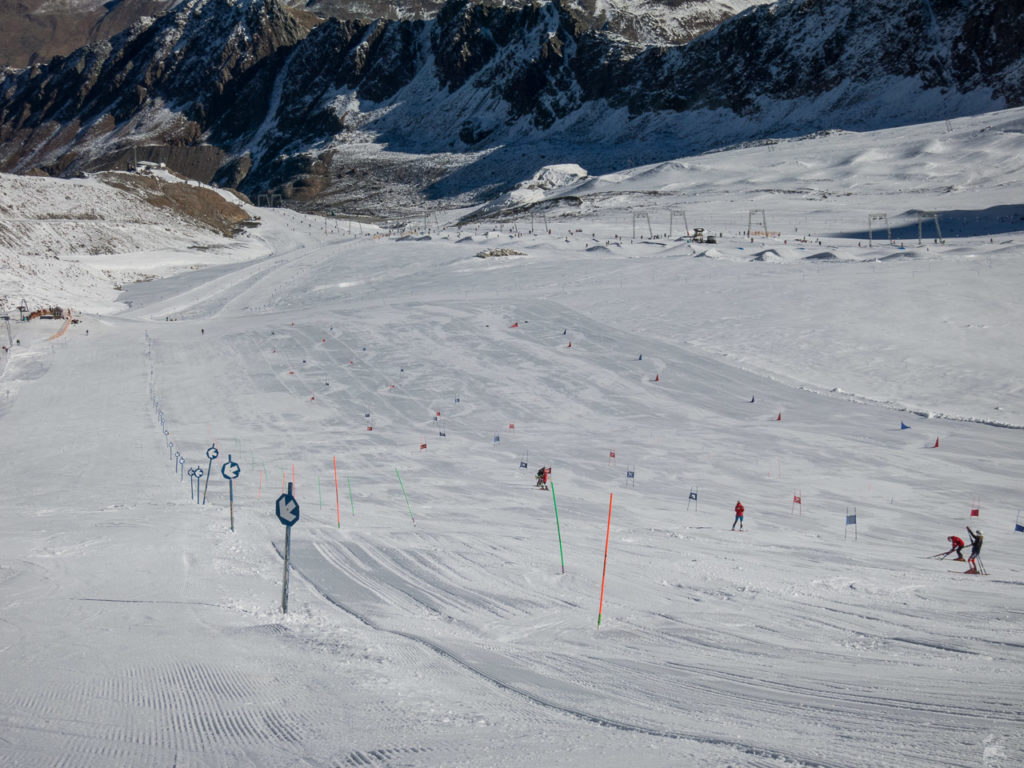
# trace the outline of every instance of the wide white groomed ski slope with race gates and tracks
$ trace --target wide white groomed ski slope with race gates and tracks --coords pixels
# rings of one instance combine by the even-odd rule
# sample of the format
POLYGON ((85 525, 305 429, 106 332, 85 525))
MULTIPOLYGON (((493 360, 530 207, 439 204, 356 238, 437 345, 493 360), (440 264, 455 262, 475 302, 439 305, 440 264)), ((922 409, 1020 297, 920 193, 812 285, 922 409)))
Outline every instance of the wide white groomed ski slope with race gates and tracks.
POLYGON ((1021 125, 589 179, 550 234, 259 211, 16 325, 0 764, 1021 765, 1021 125), (988 577, 927 557, 967 524, 988 577))

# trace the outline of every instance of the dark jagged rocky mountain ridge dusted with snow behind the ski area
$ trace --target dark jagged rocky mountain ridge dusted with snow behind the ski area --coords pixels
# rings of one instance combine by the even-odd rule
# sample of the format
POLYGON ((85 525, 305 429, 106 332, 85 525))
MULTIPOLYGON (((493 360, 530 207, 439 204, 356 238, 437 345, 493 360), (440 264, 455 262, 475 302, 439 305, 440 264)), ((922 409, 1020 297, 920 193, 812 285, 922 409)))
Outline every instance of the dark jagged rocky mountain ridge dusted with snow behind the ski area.
POLYGON ((200 165, 220 158, 215 177, 252 196, 416 204, 514 183, 512 156, 528 156, 516 172, 613 166, 1021 104, 1022 50, 1017 0, 782 0, 679 46, 595 31, 560 0, 323 23, 280 0, 188 0, 0 75, 0 170, 207 146, 200 165))

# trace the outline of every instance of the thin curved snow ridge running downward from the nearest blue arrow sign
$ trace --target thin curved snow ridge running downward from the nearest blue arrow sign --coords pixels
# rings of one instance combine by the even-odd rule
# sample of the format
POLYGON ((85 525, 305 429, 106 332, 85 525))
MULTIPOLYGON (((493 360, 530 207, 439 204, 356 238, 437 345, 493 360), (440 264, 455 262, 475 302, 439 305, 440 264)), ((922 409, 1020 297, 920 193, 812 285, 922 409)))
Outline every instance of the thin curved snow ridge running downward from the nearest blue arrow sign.
MULTIPOLYGON (((271 542, 271 546, 273 547, 273 551, 276 552, 278 556, 284 561, 285 555, 281 551, 281 548, 278 545, 278 543, 276 542, 271 542)), ((321 555, 321 556, 323 557, 323 555, 321 555)), ((766 759, 769 759, 769 760, 781 760, 781 761, 786 761, 786 762, 796 761, 796 762, 798 762, 798 764, 800 766, 805 766, 806 768, 841 768, 840 764, 838 764, 838 763, 822 763, 822 762, 819 762, 819 761, 817 761, 815 759, 812 759, 812 758, 797 757, 795 755, 784 754, 784 753, 778 752, 777 750, 772 750, 772 749, 767 748, 767 746, 758 746, 756 744, 748 744, 748 743, 742 743, 742 742, 739 742, 739 741, 733 741, 733 740, 730 740, 730 739, 727 739, 727 738, 717 738, 715 736, 707 736, 707 735, 701 735, 701 734, 697 734, 697 733, 687 733, 687 732, 684 732, 684 731, 660 730, 660 729, 657 729, 657 728, 651 728, 651 727, 648 727, 648 726, 645 726, 645 725, 640 725, 638 723, 628 723, 628 722, 622 721, 622 720, 612 720, 611 718, 606 718, 606 717, 603 717, 601 715, 595 715, 593 713, 585 712, 583 710, 578 710, 578 709, 574 709, 574 708, 571 708, 571 707, 565 707, 563 705, 557 703, 556 701, 552 701, 551 699, 545 698, 545 697, 543 697, 543 696, 541 696, 541 695, 539 695, 537 693, 531 693, 531 692, 529 692, 527 690, 523 690, 521 688, 518 688, 515 685, 513 685, 512 683, 508 683, 508 682, 505 682, 504 680, 500 680, 499 678, 494 677, 493 675, 488 675, 483 670, 480 670, 477 667, 475 667, 472 663, 467 662, 466 659, 464 659, 461 656, 459 656, 458 654, 456 654, 454 651, 449 650, 447 648, 443 647, 442 645, 440 645, 439 643, 437 643, 437 642, 435 642, 433 640, 430 640, 430 639, 425 638, 425 637, 421 637, 419 635, 414 635, 414 634, 409 633, 409 632, 402 632, 401 630, 391 630, 391 629, 387 629, 385 627, 378 626, 372 620, 370 620, 367 616, 365 616, 365 615, 356 612, 355 610, 353 610, 352 608, 348 607, 347 605, 344 605, 343 603, 339 602, 335 597, 333 597, 332 595, 330 595, 327 592, 325 592, 324 590, 322 590, 319 588, 319 585, 317 585, 315 582, 312 582, 308 578, 306 578, 306 575, 302 572, 302 569, 299 568, 297 565, 295 565, 294 562, 292 563, 292 569, 316 594, 318 594, 321 597, 323 597, 325 600, 327 600, 329 603, 331 603, 335 607, 340 608, 345 613, 348 613, 350 616, 352 616, 353 618, 355 618, 356 621, 358 621, 360 624, 365 625, 369 629, 374 630, 375 632, 383 632, 385 634, 392 635, 394 637, 401 637, 401 638, 404 638, 406 640, 410 640, 410 641, 412 641, 414 643, 417 643, 419 645, 427 647, 430 650, 432 650, 435 653, 437 653, 442 658, 445 658, 449 662, 452 662, 453 664, 455 664, 455 665, 457 665, 459 667, 462 667, 467 672, 470 672, 473 675, 476 675, 477 677, 481 678, 482 680, 486 680, 487 682, 492 683, 493 685, 496 685, 497 687, 501 688, 502 690, 508 691, 509 693, 514 693, 516 695, 519 695, 519 696, 521 696, 521 697, 529 700, 529 701, 532 701, 534 703, 537 703, 537 705, 540 705, 541 707, 546 707, 548 709, 554 710, 554 711, 559 712, 559 713, 561 713, 563 715, 569 715, 570 717, 574 717, 574 718, 578 718, 578 719, 583 720, 585 722, 591 723, 593 725, 599 725, 599 726, 604 727, 604 728, 616 728, 616 729, 623 730, 623 731, 629 731, 629 732, 632 732, 632 733, 643 733, 643 734, 646 734, 648 736, 656 736, 656 737, 659 737, 659 738, 675 738, 675 739, 680 739, 680 740, 685 740, 685 741, 695 741, 697 743, 710 744, 712 746, 731 748, 733 750, 736 750, 738 752, 744 753, 746 755, 750 755, 750 756, 756 757, 756 758, 766 758, 766 759)))

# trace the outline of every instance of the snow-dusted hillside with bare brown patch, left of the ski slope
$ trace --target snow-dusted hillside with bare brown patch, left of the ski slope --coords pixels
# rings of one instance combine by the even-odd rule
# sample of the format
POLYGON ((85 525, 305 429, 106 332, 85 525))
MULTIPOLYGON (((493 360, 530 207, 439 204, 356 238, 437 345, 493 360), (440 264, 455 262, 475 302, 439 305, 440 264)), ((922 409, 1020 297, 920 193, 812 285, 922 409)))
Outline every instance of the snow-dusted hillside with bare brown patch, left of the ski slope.
POLYGON ((248 218, 233 196, 159 169, 69 180, 0 174, 0 312, 123 308, 129 283, 254 258, 249 238, 229 239, 248 218))

